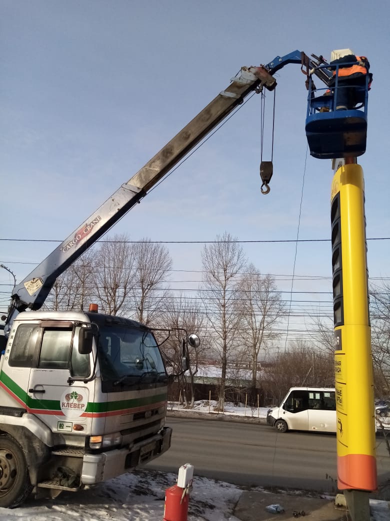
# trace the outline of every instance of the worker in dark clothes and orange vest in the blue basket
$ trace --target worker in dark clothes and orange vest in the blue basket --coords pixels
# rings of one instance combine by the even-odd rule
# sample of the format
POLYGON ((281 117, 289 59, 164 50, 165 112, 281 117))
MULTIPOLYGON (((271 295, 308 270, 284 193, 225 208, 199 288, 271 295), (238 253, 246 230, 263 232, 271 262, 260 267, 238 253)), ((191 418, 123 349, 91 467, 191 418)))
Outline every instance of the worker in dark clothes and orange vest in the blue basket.
MULTIPOLYGON (((330 65, 339 65, 337 69, 336 110, 353 109, 358 103, 363 103, 367 75, 369 75, 369 89, 372 82, 372 74, 369 72, 370 63, 366 56, 347 54, 332 60, 330 65)), ((336 69, 332 70, 331 87, 336 83, 336 69)))

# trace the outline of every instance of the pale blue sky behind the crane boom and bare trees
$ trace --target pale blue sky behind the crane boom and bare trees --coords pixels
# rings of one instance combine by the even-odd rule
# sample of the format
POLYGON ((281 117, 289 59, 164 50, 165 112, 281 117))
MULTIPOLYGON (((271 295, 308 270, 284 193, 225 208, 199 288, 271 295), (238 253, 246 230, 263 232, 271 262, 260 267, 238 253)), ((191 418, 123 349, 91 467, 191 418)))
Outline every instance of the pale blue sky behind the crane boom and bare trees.
MULTIPOLYGON (((18 281, 56 243, 16 239, 61 242, 224 90, 241 66, 268 63, 295 49, 329 58, 332 49, 349 47, 368 56, 374 81, 367 152, 359 158, 367 237, 390 237, 387 1, 0 0, 0 14, 0 238, 12 239, 0 241, 0 263, 18 281)), ((295 240, 303 190, 299 238, 329 239, 333 171, 330 160, 307 153, 305 76, 289 65, 277 80, 270 194, 260 192, 260 97, 254 96, 111 235, 213 241, 227 231, 240 241, 295 240)), ((265 160, 270 125, 266 134, 265 160)), ((368 241, 370 277, 390 276, 389 243, 368 241)), ((277 276, 289 299, 295 244, 242 245, 261 272, 277 276)), ((200 273, 179 270, 201 270, 203 245, 167 246, 178 270, 171 287, 198 287, 183 281, 200 280, 200 273)), ((331 291, 330 243, 299 243, 295 275, 306 280, 298 277, 294 291, 331 291)), ((0 270, 0 284, 11 281, 0 270)), ((0 287, 4 311, 9 290, 0 287)), ((313 301, 302 305, 304 314, 311 307, 330 309, 329 294, 293 298, 313 301)))

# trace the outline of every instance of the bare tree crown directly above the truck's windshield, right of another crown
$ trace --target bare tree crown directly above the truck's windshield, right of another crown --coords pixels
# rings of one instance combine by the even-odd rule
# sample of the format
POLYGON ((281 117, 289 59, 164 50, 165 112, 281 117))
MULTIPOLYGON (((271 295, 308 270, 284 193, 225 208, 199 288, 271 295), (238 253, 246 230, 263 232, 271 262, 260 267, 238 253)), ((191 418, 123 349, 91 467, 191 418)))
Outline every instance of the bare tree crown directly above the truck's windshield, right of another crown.
POLYGON ((168 293, 163 284, 168 280, 172 258, 167 248, 150 239, 133 245, 135 258, 135 280, 132 295, 135 302, 136 319, 150 324, 158 317, 168 293))

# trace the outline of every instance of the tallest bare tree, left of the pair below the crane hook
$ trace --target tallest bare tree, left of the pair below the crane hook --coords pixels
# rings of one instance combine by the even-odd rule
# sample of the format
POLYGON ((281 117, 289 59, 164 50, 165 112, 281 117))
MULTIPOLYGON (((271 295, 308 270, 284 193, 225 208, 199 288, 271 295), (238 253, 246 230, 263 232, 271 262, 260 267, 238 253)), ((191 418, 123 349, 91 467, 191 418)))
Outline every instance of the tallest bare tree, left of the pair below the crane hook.
POLYGON ((200 291, 212 342, 222 364, 218 408, 224 407, 228 355, 235 344, 240 317, 237 315, 236 278, 245 266, 245 256, 237 239, 227 232, 205 245, 202 252, 203 287, 200 291))

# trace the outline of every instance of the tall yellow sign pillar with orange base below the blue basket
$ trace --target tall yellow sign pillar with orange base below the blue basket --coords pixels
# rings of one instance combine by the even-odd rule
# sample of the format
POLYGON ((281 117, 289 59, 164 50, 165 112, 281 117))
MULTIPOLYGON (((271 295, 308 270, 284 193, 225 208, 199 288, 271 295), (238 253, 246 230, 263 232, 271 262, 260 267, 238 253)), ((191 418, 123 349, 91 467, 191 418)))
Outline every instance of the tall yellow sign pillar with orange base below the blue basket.
POLYGON ((364 180, 341 166, 331 191, 337 487, 376 490, 364 180))

